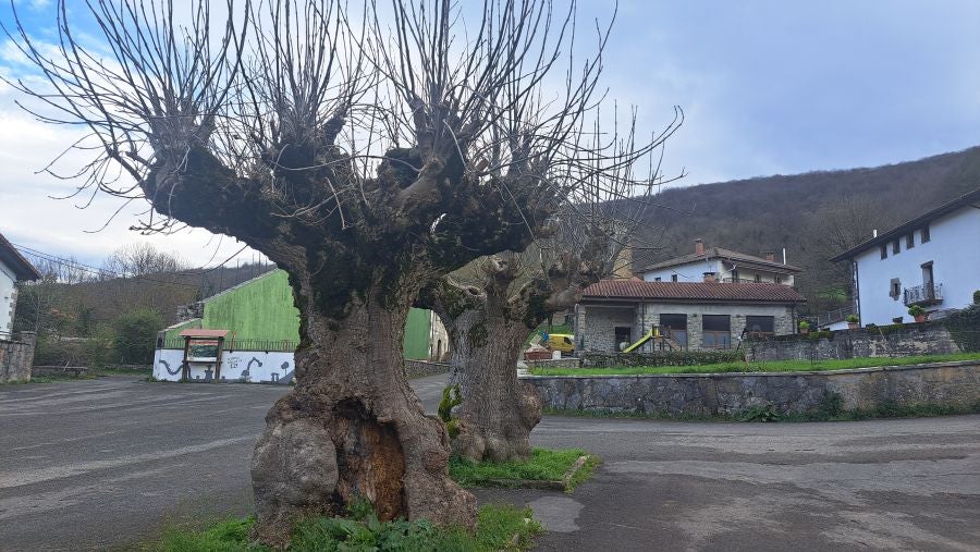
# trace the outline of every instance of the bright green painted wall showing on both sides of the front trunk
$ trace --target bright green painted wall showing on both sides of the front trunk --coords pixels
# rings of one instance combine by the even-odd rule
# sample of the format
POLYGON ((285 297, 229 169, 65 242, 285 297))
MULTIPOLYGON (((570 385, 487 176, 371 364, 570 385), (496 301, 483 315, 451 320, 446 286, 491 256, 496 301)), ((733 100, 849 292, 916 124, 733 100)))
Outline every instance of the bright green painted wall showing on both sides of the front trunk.
MULTIPOLYGON (((405 324, 405 358, 429 356, 431 331, 429 310, 413 308, 405 324)), ((230 330, 229 340, 299 341, 299 311, 293 305, 293 290, 282 270, 273 270, 250 282, 205 299, 203 320, 188 320, 167 331, 177 339, 182 330, 205 328, 230 330)))

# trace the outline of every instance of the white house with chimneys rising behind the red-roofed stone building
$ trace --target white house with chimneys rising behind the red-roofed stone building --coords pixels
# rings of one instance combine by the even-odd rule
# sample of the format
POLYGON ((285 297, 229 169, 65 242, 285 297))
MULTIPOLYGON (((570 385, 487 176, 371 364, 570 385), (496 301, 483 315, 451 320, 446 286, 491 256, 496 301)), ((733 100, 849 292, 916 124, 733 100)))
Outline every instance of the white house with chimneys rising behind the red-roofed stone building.
POLYGON ((793 285, 803 269, 775 260, 774 253, 756 257, 722 247, 705 247, 695 240, 695 252, 639 270, 645 282, 701 282, 706 275, 722 283, 773 283, 793 285))

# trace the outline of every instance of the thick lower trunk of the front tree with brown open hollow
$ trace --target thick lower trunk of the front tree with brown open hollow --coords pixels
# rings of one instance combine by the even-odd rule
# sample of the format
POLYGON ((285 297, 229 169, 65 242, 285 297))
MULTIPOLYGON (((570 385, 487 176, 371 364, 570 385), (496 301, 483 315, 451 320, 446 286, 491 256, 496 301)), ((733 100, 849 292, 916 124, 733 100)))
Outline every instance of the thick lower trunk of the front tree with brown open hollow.
POLYGON ((296 385, 266 416, 252 463, 262 542, 284 547, 297 517, 339 514, 358 498, 382 520, 473 524, 474 496, 448 475, 445 429, 422 412, 405 377, 409 299, 392 305, 379 287, 340 319, 297 300, 296 385))

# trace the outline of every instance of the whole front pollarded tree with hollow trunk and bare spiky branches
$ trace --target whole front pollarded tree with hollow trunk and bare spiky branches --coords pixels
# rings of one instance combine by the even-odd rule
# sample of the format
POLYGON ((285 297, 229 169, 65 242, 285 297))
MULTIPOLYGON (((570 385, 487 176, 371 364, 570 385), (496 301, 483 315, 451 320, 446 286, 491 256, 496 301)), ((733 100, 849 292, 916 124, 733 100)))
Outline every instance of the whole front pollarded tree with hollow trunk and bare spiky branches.
POLYGON ((405 319, 426 282, 524 249, 597 174, 650 152, 592 125, 607 32, 577 62, 574 7, 540 0, 86 5, 59 2, 53 46, 10 29, 47 81, 11 83, 27 108, 90 131, 79 188, 290 274, 296 385, 256 445, 258 536, 284 544, 297 515, 355 496, 384 519, 471 525, 445 430, 404 376, 405 319))

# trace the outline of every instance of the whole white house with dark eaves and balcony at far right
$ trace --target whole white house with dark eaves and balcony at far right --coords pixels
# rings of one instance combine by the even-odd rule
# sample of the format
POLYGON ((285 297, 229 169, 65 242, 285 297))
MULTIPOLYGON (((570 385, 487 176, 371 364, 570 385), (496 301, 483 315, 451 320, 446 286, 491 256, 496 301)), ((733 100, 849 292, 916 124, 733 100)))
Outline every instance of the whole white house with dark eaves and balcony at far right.
POLYGON ((911 321, 911 305, 966 307, 980 290, 980 188, 831 260, 852 263, 862 324, 911 321))

